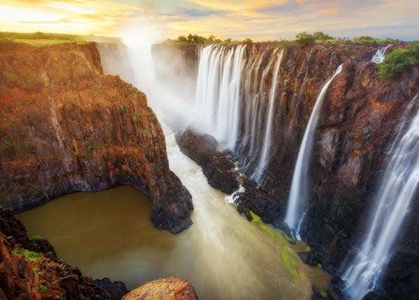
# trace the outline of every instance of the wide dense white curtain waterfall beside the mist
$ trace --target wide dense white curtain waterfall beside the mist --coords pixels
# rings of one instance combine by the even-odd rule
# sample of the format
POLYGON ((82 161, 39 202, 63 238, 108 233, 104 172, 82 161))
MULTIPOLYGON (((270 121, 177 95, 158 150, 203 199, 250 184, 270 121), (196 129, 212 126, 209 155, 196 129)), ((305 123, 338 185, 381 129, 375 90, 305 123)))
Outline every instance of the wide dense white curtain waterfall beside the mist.
POLYGON ((240 90, 246 45, 208 45, 198 66, 196 110, 200 123, 234 149, 240 123, 240 90))

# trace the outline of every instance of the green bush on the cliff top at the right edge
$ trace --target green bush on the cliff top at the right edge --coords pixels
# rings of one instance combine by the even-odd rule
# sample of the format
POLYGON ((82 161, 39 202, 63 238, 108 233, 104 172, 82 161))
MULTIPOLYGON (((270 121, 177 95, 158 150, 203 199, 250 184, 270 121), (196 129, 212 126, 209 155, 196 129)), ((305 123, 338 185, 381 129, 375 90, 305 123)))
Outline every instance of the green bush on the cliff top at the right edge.
POLYGON ((380 79, 384 82, 396 79, 404 70, 419 65, 419 42, 411 43, 409 49, 396 49, 378 65, 380 79))

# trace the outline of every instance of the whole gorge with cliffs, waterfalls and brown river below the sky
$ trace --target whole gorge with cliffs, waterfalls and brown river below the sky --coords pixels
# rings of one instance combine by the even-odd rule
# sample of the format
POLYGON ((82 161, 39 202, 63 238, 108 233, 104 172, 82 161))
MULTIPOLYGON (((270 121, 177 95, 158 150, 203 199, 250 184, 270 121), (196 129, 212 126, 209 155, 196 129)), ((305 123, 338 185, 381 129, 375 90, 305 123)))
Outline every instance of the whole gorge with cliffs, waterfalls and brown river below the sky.
POLYGON ((30 234, 130 290, 418 297, 419 66, 376 67, 407 43, 150 46, 1 44, 0 204, 30 234))

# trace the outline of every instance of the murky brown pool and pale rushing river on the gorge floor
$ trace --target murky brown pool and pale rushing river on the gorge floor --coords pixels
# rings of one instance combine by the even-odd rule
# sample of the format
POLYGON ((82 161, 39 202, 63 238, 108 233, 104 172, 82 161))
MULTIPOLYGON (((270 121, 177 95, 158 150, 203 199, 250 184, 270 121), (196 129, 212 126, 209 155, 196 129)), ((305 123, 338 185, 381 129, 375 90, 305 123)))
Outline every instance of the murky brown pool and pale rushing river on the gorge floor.
POLYGON ((50 240, 57 255, 94 278, 128 288, 178 276, 200 299, 309 299, 328 276, 303 264, 281 232, 240 216, 202 170, 166 135, 171 169, 193 195, 194 224, 172 235, 151 225, 151 201, 128 186, 60 197, 19 215, 29 235, 50 240))

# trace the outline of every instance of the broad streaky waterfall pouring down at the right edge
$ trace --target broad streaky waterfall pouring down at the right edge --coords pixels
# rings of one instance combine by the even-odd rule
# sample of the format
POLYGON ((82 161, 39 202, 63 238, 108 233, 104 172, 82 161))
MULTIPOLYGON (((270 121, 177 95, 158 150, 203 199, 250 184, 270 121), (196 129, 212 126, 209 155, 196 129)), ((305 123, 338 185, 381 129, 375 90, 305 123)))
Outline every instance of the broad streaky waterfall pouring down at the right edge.
MULTIPOLYGON (((416 112, 413 112, 413 119, 404 135, 396 139, 390 151, 390 161, 374 198, 375 207, 367 238, 362 243, 362 248, 351 267, 342 276, 346 281, 347 291, 353 299, 362 299, 378 284, 391 258, 392 249, 403 221, 409 213, 410 204, 418 193, 419 109, 416 103, 417 98, 418 96, 412 100, 412 105, 416 109, 416 112)), ((401 127, 403 130, 404 126, 401 127)))

